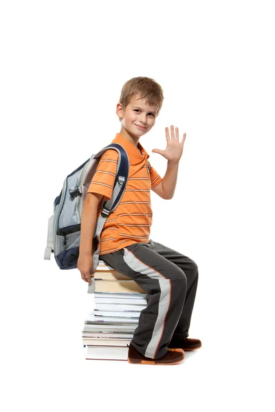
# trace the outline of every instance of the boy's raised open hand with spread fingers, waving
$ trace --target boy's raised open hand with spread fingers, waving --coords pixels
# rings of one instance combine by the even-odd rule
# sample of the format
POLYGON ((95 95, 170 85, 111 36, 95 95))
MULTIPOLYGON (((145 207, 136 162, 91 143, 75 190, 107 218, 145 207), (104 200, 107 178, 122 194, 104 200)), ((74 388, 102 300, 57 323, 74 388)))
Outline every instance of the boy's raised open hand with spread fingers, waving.
POLYGON ((160 149, 153 149, 152 152, 159 153, 167 159, 168 161, 175 161, 175 163, 179 162, 181 158, 182 152, 184 150, 184 141, 186 139, 186 133, 182 137, 182 140, 179 141, 179 129, 176 127, 174 132, 174 126, 170 126, 171 129, 171 138, 169 136, 169 129, 168 127, 165 128, 166 134, 166 141, 167 147, 165 150, 160 149))

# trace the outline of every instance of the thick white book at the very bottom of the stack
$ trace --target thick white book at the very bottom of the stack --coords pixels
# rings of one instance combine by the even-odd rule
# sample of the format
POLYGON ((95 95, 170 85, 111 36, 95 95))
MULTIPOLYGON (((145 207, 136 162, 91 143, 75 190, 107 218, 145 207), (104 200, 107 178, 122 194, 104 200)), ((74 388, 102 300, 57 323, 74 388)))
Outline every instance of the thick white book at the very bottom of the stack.
POLYGON ((89 360, 126 361, 128 358, 127 346, 85 346, 85 357, 89 360))

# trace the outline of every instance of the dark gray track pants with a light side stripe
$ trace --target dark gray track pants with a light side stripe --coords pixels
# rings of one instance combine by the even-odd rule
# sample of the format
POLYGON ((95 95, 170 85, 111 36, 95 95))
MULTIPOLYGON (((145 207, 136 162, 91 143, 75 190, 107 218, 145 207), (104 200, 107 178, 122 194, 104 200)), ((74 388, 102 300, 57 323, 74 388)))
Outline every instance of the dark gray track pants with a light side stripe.
POLYGON ((188 336, 198 282, 193 260, 153 240, 100 255, 100 259, 131 277, 147 294, 147 306, 131 341, 138 352, 161 358, 170 341, 188 336))

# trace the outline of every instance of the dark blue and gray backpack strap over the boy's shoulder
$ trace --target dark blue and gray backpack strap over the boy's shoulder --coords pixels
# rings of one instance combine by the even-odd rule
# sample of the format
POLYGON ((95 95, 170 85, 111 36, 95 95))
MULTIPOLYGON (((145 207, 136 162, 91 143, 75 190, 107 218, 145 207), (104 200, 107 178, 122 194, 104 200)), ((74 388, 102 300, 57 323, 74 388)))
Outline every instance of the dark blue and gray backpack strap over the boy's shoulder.
MULTIPOLYGON (((96 251, 93 250, 93 273, 95 273, 96 268, 98 266, 98 260, 100 255, 100 233, 104 227, 107 217, 109 214, 118 207, 120 200, 124 194, 124 190, 126 188, 126 183, 128 181, 129 176, 129 158, 124 150, 124 148, 117 143, 109 144, 106 148, 100 150, 97 155, 94 157, 100 157, 102 152, 106 150, 114 149, 118 152, 118 165, 117 171, 115 175, 115 182, 113 184, 113 192, 111 199, 109 201, 105 201, 102 204, 102 211, 101 214, 96 222, 96 228, 94 231, 94 238, 98 240, 98 249, 96 251)), ((94 293, 94 278, 91 279, 91 286, 88 287, 88 293, 94 293)))

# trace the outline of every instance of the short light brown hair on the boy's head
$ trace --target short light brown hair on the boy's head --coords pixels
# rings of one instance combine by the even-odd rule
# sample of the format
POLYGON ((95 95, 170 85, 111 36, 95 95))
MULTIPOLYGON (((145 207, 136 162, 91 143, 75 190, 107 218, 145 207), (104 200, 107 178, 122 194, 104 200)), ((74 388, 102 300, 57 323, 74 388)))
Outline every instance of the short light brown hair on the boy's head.
POLYGON ((146 103, 157 106, 157 115, 162 108, 164 95, 162 87, 155 80, 146 77, 137 77, 128 80, 122 87, 120 94, 120 104, 122 110, 131 102, 131 99, 140 94, 140 99, 146 99, 146 103))

